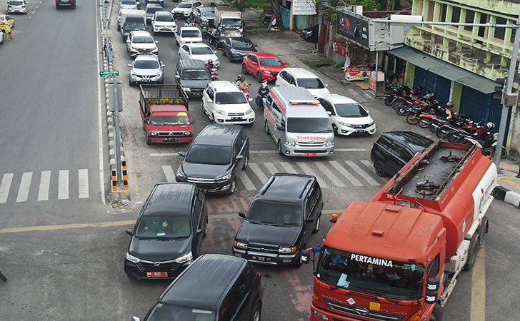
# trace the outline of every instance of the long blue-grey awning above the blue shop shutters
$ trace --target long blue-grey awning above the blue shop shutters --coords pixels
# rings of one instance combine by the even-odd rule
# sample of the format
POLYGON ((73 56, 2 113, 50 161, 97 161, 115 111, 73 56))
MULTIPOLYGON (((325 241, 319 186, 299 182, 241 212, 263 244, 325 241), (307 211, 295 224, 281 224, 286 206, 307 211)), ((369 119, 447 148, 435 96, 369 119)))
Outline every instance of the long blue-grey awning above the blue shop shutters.
POLYGON ((474 88, 481 93, 494 93, 495 86, 499 86, 499 83, 491 81, 486 77, 479 76, 476 73, 442 61, 409 46, 402 46, 387 52, 451 81, 474 88))

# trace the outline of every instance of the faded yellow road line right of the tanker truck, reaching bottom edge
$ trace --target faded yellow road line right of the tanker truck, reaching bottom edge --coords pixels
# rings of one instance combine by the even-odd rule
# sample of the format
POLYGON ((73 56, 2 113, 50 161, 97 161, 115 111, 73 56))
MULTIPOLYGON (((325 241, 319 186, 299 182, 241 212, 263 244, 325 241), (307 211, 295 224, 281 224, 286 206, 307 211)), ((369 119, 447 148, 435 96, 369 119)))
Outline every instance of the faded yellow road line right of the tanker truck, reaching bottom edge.
POLYGON ((471 275, 471 321, 486 320, 486 246, 476 254, 471 275))

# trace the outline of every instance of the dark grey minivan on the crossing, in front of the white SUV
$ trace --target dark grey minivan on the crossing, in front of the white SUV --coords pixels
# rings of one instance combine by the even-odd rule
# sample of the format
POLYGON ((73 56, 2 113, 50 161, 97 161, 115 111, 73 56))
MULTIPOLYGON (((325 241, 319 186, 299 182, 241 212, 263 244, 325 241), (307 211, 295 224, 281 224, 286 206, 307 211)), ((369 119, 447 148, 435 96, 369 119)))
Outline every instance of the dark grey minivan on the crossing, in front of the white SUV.
POLYGON ((197 136, 176 174, 177 182, 194 183, 204 193, 233 194, 236 178, 249 162, 249 137, 239 125, 211 124, 197 136))

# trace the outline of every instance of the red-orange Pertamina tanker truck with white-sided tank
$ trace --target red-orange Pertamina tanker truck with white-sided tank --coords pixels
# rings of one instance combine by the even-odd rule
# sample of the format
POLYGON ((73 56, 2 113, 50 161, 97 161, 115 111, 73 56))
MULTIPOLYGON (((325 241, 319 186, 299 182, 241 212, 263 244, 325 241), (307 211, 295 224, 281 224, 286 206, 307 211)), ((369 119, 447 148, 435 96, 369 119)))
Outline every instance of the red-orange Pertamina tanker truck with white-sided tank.
POLYGON ((313 248, 311 320, 442 320, 484 243, 495 185, 496 167, 480 148, 436 142, 369 202, 333 215, 313 248))

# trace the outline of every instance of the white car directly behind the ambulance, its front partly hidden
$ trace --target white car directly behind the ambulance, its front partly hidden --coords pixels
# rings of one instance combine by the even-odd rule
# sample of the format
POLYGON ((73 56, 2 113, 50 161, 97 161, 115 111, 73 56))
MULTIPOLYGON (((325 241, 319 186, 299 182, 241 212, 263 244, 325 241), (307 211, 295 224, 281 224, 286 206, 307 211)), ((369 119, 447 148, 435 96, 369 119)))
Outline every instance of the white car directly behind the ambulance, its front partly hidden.
POLYGON ((318 76, 304 68, 284 68, 276 76, 276 86, 303 87, 314 97, 331 93, 318 76))

